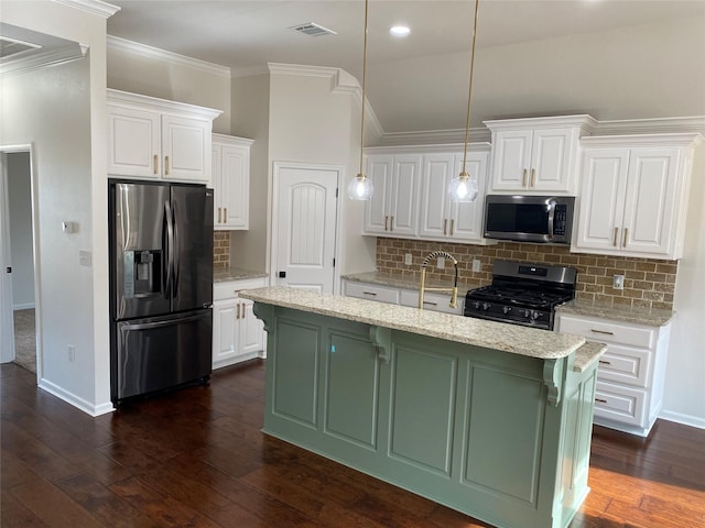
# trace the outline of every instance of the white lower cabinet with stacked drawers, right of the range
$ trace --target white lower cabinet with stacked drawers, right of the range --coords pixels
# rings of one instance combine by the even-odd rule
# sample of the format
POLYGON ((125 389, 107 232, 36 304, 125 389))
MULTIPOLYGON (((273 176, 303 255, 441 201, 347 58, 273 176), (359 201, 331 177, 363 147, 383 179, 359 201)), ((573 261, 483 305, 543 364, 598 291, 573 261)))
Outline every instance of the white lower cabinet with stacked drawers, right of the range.
POLYGON ((556 331, 607 344, 599 360, 595 424, 646 437, 663 404, 671 323, 651 327, 556 314, 556 331))

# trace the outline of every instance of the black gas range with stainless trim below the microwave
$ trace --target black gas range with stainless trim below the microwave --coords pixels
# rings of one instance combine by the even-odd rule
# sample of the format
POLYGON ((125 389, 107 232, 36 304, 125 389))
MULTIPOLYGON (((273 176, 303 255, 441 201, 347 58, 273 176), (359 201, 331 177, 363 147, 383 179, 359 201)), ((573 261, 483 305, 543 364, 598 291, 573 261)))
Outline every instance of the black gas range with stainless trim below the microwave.
POLYGON ((556 306, 575 297, 573 267, 495 261, 492 284, 465 296, 468 317, 553 330, 556 306))

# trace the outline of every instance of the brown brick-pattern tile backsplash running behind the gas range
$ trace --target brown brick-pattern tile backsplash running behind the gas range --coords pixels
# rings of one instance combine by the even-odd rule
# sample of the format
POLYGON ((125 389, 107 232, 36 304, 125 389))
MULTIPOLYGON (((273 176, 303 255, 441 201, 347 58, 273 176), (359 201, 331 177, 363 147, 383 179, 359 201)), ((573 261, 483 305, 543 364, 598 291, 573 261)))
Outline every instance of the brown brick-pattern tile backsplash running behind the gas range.
MULTIPOLYGON (((568 248, 560 245, 518 242, 468 245, 380 237, 377 239, 377 271, 419 279, 423 258, 437 250, 451 253, 458 261, 458 279, 468 287, 491 283, 496 258, 545 263, 577 270, 577 298, 614 305, 673 309, 677 261, 571 253, 568 248), (404 264, 406 253, 412 255, 411 265, 404 264), (480 261, 479 272, 473 272, 473 260, 480 261), (612 288, 614 275, 625 276, 625 289, 612 288)), ((429 278, 451 280, 453 266, 436 270, 435 264, 432 262, 426 267, 429 278)))

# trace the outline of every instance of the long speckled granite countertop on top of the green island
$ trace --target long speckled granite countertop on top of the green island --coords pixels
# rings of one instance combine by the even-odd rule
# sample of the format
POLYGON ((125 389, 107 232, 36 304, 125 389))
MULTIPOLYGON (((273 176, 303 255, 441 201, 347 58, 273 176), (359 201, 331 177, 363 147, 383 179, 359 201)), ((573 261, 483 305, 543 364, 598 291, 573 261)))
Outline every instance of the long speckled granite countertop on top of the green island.
POLYGON ((240 297, 539 359, 566 358, 586 342, 579 336, 282 286, 248 289, 240 297))

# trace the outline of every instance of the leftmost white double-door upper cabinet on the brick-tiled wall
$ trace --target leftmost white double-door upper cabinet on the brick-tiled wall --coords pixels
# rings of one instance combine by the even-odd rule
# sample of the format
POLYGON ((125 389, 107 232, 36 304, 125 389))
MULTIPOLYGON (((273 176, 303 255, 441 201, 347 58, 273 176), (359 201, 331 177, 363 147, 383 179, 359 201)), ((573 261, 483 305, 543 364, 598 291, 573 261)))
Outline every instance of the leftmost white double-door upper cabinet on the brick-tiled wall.
POLYGON ((367 177, 375 186, 365 205, 365 233, 416 237, 421 155, 369 154, 367 177))

